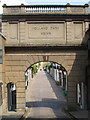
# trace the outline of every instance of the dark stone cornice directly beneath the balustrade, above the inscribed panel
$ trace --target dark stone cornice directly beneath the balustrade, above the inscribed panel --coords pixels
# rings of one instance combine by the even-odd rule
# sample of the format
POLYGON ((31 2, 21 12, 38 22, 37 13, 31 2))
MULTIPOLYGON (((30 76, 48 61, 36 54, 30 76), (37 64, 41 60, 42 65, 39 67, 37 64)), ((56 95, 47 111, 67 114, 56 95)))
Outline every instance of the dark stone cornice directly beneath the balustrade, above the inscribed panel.
POLYGON ((90 21, 90 15, 67 14, 34 14, 34 15, 2 15, 2 22, 6 21, 90 21))

